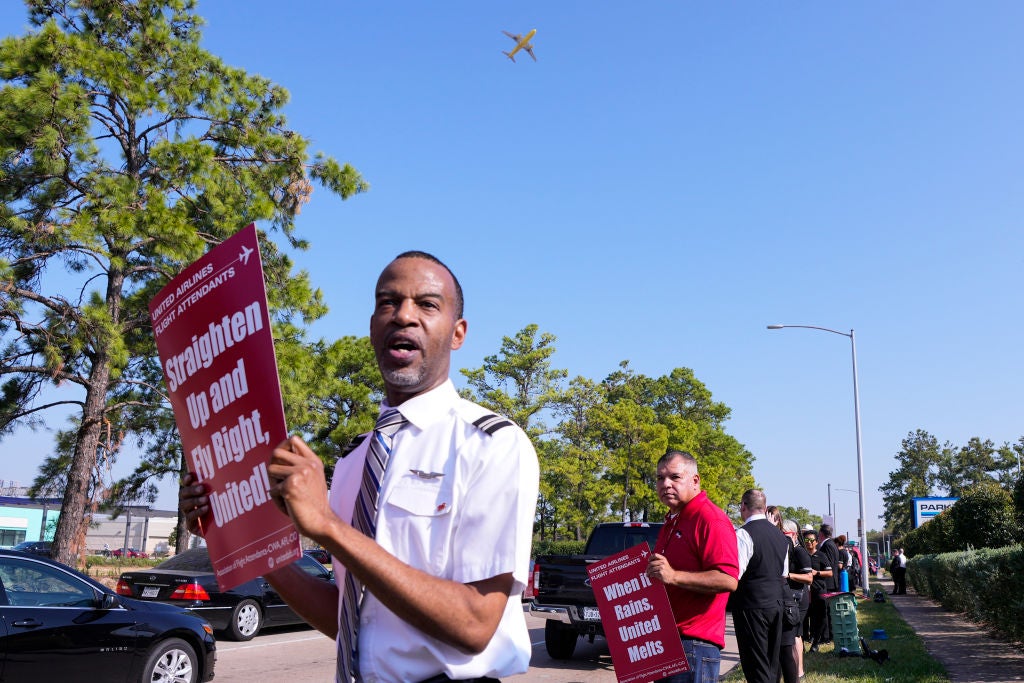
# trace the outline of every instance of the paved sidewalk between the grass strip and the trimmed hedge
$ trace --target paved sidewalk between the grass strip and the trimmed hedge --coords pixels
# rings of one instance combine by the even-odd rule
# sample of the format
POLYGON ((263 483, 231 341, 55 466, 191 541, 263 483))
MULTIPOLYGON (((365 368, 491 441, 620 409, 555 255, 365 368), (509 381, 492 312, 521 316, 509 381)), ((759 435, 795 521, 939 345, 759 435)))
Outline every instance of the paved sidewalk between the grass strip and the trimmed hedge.
POLYGON ((893 584, 876 579, 896 611, 925 641, 929 654, 942 663, 953 683, 1004 683, 1024 681, 1024 649, 991 638, 982 627, 961 614, 946 611, 938 602, 918 595, 889 595, 893 584))

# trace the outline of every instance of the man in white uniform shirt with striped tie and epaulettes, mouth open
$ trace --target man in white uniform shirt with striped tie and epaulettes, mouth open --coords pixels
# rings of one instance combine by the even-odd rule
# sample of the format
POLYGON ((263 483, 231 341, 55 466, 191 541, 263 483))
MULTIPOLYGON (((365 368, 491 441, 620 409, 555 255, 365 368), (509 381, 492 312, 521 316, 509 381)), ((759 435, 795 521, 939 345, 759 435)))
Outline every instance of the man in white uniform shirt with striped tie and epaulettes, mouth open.
MULTIPOLYGON (((273 453, 271 495, 301 533, 331 553, 337 585, 294 565, 265 578, 339 640, 339 661, 354 648, 357 673, 349 680, 489 681, 525 672, 530 643, 519 594, 537 455, 521 429, 460 398, 449 379, 467 324, 447 266, 423 252, 400 254, 381 273, 375 297, 370 338, 385 384, 382 414, 397 409, 406 422, 380 481, 376 536, 350 520, 377 433, 338 461, 330 494, 319 458, 292 436, 273 453), (357 644, 340 635, 346 572, 366 591, 357 644)), ((197 529, 209 501, 193 482, 185 478, 179 498, 197 529)))

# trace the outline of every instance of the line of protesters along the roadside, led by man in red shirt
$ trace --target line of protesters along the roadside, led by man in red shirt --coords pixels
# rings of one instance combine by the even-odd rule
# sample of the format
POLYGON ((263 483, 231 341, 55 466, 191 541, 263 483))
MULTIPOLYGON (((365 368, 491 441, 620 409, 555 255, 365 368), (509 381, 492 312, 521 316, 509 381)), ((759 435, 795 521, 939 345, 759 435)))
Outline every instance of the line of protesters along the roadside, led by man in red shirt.
POLYGON ((670 451, 657 464, 657 496, 669 508, 647 573, 666 585, 690 671, 668 683, 717 680, 732 613, 743 676, 797 683, 809 652, 831 640, 826 598, 856 585, 859 558, 830 524, 801 529, 746 490, 734 529, 700 487, 696 460, 670 451), (846 583, 844 572, 849 572, 846 583))

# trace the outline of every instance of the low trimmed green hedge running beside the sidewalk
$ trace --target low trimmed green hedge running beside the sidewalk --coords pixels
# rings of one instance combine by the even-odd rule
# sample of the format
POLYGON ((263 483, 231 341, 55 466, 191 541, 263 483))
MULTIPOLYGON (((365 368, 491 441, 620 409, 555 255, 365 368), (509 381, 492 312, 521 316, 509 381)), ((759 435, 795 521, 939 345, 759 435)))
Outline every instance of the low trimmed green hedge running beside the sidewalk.
POLYGON ((935 598, 950 611, 965 612, 1007 638, 1024 642, 1022 566, 1024 546, 1017 544, 922 555, 911 558, 906 570, 908 582, 919 593, 935 598))

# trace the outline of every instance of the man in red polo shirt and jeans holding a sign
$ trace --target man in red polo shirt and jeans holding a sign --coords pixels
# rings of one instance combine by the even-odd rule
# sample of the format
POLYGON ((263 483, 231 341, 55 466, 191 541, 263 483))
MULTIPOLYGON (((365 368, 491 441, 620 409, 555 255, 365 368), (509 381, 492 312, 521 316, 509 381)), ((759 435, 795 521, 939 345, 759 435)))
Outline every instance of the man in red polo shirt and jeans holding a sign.
POLYGON ((665 584, 690 671, 662 683, 717 681, 725 647, 725 606, 736 590, 736 531, 700 490, 696 459, 669 451, 657 461, 657 498, 669 507, 647 575, 665 584))

